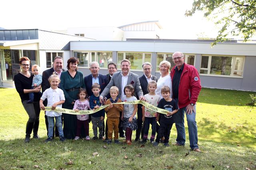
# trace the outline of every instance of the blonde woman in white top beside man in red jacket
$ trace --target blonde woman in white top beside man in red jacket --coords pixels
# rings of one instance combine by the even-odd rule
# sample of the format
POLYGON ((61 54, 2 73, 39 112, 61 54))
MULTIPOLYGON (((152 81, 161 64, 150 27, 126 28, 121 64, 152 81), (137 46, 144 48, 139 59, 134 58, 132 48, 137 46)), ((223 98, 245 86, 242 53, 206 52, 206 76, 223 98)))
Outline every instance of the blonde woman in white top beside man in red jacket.
MULTIPOLYGON (((171 67, 171 63, 169 61, 161 61, 161 63, 159 64, 159 69, 161 72, 161 76, 157 81, 157 88, 156 88, 156 94, 158 94, 159 96, 161 96, 161 88, 163 86, 168 86, 171 90, 172 93, 172 79, 171 76, 169 74, 169 70, 171 67)), ((172 94, 170 96, 172 98, 172 94)))

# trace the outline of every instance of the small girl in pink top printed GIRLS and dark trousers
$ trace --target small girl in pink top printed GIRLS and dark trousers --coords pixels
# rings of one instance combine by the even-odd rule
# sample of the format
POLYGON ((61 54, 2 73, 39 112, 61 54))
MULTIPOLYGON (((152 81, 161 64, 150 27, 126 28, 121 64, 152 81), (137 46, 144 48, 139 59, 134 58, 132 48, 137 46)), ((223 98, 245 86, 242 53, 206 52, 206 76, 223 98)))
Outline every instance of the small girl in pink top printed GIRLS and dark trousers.
MULTIPOLYGON (((81 88, 77 94, 78 100, 76 100, 73 110, 78 112, 79 110, 88 110, 90 109, 90 104, 86 100, 87 92, 85 89, 81 88)), ((76 137, 75 140, 78 140, 81 133, 81 128, 84 125, 84 131, 86 135, 86 141, 90 140, 89 137, 89 115, 76 115, 76 137)))

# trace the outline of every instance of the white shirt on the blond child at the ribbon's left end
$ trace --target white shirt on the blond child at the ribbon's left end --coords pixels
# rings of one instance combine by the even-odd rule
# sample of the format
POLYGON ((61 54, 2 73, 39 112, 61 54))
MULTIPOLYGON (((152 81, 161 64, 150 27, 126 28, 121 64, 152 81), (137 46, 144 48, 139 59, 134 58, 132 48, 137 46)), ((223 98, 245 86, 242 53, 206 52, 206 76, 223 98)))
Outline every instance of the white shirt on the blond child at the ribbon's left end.
MULTIPOLYGON (((65 100, 65 96, 63 91, 60 88, 52 89, 51 87, 46 89, 41 97, 42 100, 47 99, 47 107, 52 107, 52 105, 56 102, 60 102, 61 100, 65 100)), ((57 105, 56 107, 62 108, 62 104, 57 105)), ((62 115, 62 113, 56 111, 46 111, 46 116, 56 117, 62 115)))

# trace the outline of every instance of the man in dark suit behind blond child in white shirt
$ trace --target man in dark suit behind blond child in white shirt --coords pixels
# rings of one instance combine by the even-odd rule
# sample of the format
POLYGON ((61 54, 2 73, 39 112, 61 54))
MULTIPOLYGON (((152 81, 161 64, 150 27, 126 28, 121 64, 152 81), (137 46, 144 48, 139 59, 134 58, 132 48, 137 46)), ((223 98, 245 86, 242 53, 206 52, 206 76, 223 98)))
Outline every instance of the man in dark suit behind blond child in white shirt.
MULTIPOLYGON (((62 67, 63 67, 62 57, 56 56, 53 60, 53 67, 45 70, 42 73, 42 92, 44 92, 46 89, 50 88, 50 83, 48 81, 48 78, 52 74, 58 74, 58 76, 60 77, 61 72, 65 71, 62 67)), ((44 106, 47 106, 47 99, 44 100, 44 106)), ((47 119, 46 115, 44 115, 44 118, 45 118, 45 124, 46 124, 47 135, 48 135, 48 119, 47 119)), ((55 125, 55 127, 56 127, 56 125, 55 125)), ((55 128, 55 136, 56 137, 59 136, 57 127, 55 128)), ((54 128, 53 128, 53 137, 54 137, 54 128)))

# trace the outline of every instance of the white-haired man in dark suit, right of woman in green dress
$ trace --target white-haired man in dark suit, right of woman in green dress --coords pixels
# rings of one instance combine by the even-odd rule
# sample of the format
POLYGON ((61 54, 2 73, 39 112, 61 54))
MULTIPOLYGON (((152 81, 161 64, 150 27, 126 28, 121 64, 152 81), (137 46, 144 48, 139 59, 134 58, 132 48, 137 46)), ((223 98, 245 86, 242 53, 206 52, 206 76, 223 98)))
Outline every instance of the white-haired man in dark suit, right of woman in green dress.
MULTIPOLYGON (((108 84, 107 76, 99 74, 99 70, 100 70, 100 66, 98 62, 93 61, 92 63, 90 63, 90 71, 92 74, 89 74, 88 76, 84 77, 84 84, 85 84, 88 96, 93 95, 92 84, 94 83, 100 84, 100 93, 103 92, 104 88, 108 84)), ((102 134, 103 136, 105 133, 104 130, 105 130, 105 123, 103 121, 103 134, 102 134)))

